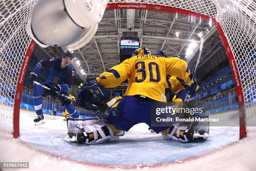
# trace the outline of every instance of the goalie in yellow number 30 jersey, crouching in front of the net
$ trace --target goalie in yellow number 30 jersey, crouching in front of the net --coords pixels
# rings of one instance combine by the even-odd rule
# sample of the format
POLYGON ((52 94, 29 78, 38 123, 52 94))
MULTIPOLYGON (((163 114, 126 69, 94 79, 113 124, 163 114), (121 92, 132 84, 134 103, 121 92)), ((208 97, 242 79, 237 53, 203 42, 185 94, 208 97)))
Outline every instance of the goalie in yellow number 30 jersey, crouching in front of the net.
POLYGON ((166 136, 177 141, 202 139, 202 134, 206 131, 194 136, 195 130, 192 127, 195 123, 182 126, 178 130, 177 126, 151 126, 151 105, 154 103, 159 107, 166 106, 165 88, 175 86, 173 82, 168 85, 167 75, 178 77, 185 83, 191 81, 190 71, 184 60, 152 56, 146 47, 141 47, 133 57, 103 72, 96 79, 87 79, 79 87, 75 99, 84 108, 105 102, 106 96, 102 87, 117 87, 127 79, 129 82, 123 98, 113 106, 104 122, 97 119, 84 120, 82 123, 77 121, 73 125, 79 131, 69 129, 69 133, 72 133, 68 134, 69 138, 78 143, 98 144, 116 140, 132 126, 146 123, 156 133, 167 129, 166 136), (174 132, 177 133, 177 138, 173 138, 174 132))

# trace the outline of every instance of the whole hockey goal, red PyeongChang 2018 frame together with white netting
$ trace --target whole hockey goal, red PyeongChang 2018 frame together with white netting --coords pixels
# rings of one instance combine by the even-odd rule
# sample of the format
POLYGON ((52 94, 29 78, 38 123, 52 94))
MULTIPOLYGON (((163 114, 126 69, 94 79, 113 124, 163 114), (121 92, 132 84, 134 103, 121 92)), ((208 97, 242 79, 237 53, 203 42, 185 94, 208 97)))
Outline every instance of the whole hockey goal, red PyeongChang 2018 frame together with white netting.
MULTIPOLYGON (((0 130, 19 136, 20 97, 35 42, 26 23, 36 0, 0 2, 0 130)), ((253 0, 110 0, 107 9, 175 12, 214 22, 236 83, 240 137, 256 115, 256 2, 253 0)))

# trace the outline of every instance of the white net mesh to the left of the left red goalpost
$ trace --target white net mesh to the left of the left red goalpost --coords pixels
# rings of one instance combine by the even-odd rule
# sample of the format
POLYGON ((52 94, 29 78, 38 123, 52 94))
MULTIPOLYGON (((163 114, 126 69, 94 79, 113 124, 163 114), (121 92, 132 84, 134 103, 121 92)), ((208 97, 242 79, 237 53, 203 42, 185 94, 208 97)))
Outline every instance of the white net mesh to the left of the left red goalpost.
POLYGON ((13 131, 13 104, 20 67, 31 38, 26 23, 35 0, 0 1, 0 130, 13 131))

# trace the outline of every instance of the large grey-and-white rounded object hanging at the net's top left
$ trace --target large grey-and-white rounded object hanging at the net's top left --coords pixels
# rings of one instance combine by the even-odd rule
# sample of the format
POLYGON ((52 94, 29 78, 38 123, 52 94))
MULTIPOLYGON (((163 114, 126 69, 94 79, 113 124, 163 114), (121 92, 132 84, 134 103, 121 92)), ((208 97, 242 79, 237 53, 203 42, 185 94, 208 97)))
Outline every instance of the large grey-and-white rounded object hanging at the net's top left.
POLYGON ((27 32, 41 47, 77 50, 95 35, 108 0, 38 0, 27 32))

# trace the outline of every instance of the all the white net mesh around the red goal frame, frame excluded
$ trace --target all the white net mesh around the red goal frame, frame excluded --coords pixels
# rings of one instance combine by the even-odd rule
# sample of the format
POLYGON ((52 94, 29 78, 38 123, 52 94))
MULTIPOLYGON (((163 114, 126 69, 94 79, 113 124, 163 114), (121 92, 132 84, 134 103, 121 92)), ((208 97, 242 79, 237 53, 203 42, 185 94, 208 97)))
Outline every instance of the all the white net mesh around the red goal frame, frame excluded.
MULTIPOLYGON (((217 0, 214 0, 217 1, 217 0)), ((26 23, 36 0, 0 1, 0 129, 13 131, 13 102, 20 67, 31 38, 26 23)), ((110 0, 110 3, 146 3, 177 7, 217 17, 212 0, 110 0)), ((256 2, 218 0, 220 25, 227 37, 242 82, 246 116, 256 114, 256 2)), ((255 118, 255 117, 254 117, 255 118)))

